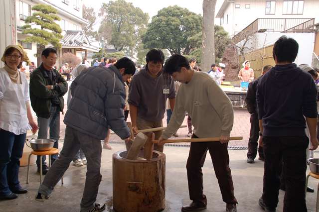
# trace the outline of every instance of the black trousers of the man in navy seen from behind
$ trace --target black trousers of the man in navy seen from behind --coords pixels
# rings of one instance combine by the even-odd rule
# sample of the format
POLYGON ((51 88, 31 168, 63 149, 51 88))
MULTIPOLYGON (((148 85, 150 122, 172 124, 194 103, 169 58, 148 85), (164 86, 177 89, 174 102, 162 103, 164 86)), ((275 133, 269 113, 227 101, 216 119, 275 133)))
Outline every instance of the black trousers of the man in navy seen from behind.
POLYGON ((265 172, 262 197, 268 208, 277 207, 283 169, 286 186, 284 212, 307 212, 305 184, 308 143, 306 136, 263 137, 265 172))

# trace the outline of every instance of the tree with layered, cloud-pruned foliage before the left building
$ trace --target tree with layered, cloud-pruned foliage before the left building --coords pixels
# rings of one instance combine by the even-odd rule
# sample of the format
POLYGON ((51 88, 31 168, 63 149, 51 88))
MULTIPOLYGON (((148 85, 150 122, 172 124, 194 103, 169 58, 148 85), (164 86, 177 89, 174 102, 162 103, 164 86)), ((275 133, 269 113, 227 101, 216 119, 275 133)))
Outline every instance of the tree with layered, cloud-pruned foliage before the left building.
MULTIPOLYGON (((55 21, 60 20, 57 14, 57 10, 47 4, 36 4, 32 6, 33 14, 25 19, 25 25, 22 26, 22 34, 28 34, 27 38, 23 40, 26 43, 37 43, 37 58, 46 45, 51 44, 55 48, 60 49, 62 47, 60 39, 62 39, 62 29, 55 21), (36 27, 31 27, 31 25, 36 27)), ((39 65, 39 64, 38 64, 39 65)))

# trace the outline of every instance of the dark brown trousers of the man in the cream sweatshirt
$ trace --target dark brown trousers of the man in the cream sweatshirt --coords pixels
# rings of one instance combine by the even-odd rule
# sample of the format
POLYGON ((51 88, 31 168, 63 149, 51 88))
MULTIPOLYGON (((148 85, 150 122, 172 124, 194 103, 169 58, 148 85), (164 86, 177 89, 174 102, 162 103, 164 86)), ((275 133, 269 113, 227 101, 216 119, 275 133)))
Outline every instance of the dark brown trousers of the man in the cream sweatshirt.
MULTIPOLYGON (((198 137, 193 134, 192 138, 198 137)), ((203 194, 202 172, 207 150, 209 150, 209 154, 213 162, 215 175, 218 180, 223 201, 225 203, 237 204, 237 200, 234 196, 233 180, 229 168, 227 143, 221 144, 220 142, 198 142, 190 144, 186 165, 190 200, 207 204, 206 196, 203 194)))

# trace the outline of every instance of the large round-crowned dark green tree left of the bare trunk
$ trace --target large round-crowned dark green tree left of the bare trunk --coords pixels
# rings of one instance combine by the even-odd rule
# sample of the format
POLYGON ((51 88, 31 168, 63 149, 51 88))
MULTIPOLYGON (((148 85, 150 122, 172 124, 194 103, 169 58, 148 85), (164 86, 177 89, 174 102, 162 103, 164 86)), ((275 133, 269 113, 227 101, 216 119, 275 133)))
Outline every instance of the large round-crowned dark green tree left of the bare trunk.
POLYGON ((170 54, 189 54, 194 48, 187 39, 201 31, 202 17, 186 8, 168 6, 161 9, 143 36, 146 48, 167 49, 170 54))

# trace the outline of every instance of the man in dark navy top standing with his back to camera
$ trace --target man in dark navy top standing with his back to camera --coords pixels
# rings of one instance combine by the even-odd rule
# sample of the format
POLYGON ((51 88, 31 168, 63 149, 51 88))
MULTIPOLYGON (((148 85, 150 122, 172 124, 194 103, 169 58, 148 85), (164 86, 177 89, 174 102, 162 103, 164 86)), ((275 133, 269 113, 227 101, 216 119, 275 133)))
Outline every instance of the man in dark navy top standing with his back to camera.
POLYGON ((318 148, 317 90, 312 76, 293 62, 299 45, 293 38, 280 37, 274 44, 276 66, 257 85, 259 127, 265 156, 263 195, 259 205, 275 212, 283 167, 286 193, 284 212, 307 212, 305 200, 306 149, 318 148), (306 136, 306 121, 310 138, 306 136), (281 163, 283 161, 283 163, 281 163))

